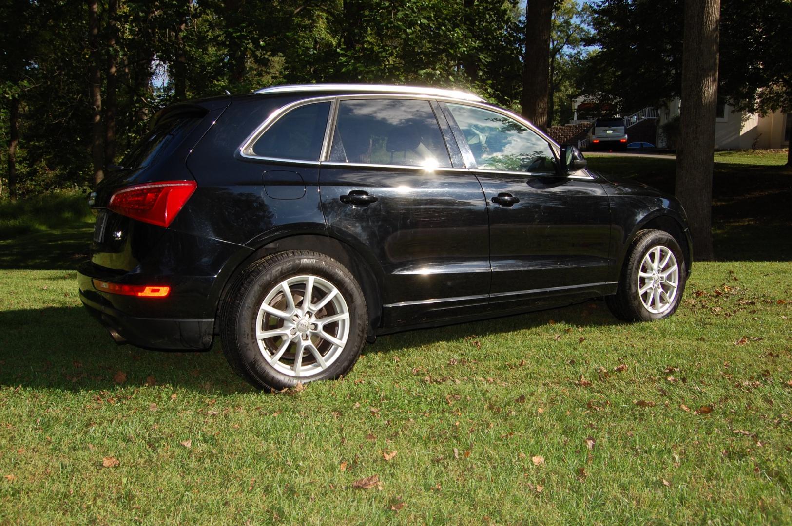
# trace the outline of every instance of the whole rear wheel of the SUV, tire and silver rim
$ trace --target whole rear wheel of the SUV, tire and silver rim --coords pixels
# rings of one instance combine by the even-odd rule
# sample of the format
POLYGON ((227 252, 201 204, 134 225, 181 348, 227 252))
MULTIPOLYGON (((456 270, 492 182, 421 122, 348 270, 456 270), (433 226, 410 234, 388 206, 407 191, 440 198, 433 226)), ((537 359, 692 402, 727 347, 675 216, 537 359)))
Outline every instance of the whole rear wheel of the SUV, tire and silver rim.
POLYGON ((340 377, 355 364, 367 331, 355 278, 316 252, 281 252, 253 263, 222 316, 229 364, 261 388, 340 377))

